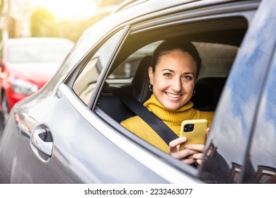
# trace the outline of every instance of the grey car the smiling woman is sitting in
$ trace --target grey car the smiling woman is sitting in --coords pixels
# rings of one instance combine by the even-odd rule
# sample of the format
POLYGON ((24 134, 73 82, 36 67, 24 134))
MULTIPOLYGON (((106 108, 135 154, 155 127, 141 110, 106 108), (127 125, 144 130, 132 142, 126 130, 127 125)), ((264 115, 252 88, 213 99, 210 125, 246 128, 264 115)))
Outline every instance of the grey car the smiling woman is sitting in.
POLYGON ((0 142, 0 181, 275 183, 275 8, 270 0, 118 8, 84 32, 45 86, 14 105, 0 142), (198 168, 120 125, 133 112, 116 91, 143 103, 151 53, 171 37, 197 46, 205 69, 192 101, 215 110, 198 168))

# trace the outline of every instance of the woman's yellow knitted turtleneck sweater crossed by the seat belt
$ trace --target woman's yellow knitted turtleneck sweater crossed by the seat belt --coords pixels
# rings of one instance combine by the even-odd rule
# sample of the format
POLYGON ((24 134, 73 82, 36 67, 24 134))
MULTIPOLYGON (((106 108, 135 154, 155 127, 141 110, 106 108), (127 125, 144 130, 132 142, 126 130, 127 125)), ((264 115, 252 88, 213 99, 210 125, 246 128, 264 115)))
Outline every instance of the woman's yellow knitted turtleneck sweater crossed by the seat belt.
MULTIPOLYGON (((163 120, 163 122, 165 122, 165 124, 167 124, 168 127, 178 136, 180 135, 180 127, 183 120, 206 119, 208 120, 208 127, 212 123, 214 112, 195 110, 192 108, 192 105, 193 103, 189 101, 183 107, 180 107, 180 109, 171 111, 159 103, 154 94, 152 94, 151 98, 144 103, 144 106, 147 107, 149 111, 153 112, 157 117, 163 120)), ((130 130, 130 132, 149 142, 149 144, 152 144, 168 153, 169 148, 166 142, 163 141, 163 139, 161 139, 161 137, 139 116, 130 117, 127 120, 122 121, 120 124, 130 130)))

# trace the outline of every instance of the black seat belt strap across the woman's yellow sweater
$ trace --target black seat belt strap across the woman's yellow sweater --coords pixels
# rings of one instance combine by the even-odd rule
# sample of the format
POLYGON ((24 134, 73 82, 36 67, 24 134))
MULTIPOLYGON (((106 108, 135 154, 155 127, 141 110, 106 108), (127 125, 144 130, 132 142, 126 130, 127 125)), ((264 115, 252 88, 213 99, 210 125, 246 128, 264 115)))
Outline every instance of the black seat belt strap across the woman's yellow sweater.
POLYGON ((115 91, 115 95, 127 105, 136 115, 142 118, 146 124, 154 129, 159 136, 169 144, 173 139, 177 139, 178 136, 171 130, 159 117, 154 115, 153 112, 149 111, 144 105, 135 100, 130 94, 121 89, 115 91))

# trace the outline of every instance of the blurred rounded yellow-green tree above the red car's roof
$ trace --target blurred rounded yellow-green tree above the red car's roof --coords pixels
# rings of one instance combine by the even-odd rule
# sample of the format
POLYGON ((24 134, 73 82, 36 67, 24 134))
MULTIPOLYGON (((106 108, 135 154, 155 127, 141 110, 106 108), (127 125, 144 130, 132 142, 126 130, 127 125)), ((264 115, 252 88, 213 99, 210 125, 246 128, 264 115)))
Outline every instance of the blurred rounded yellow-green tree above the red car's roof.
POLYGON ((58 23, 45 8, 37 8, 30 16, 32 37, 59 37, 58 23))

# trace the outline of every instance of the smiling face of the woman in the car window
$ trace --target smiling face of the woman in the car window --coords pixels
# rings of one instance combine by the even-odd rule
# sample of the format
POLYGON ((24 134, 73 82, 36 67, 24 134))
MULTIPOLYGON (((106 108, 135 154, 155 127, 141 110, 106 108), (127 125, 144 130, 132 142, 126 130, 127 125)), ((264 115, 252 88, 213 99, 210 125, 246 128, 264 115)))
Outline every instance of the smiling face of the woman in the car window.
POLYGON ((155 72, 149 68, 153 93, 168 110, 188 103, 195 86, 197 64, 188 52, 173 50, 159 57, 155 72))

